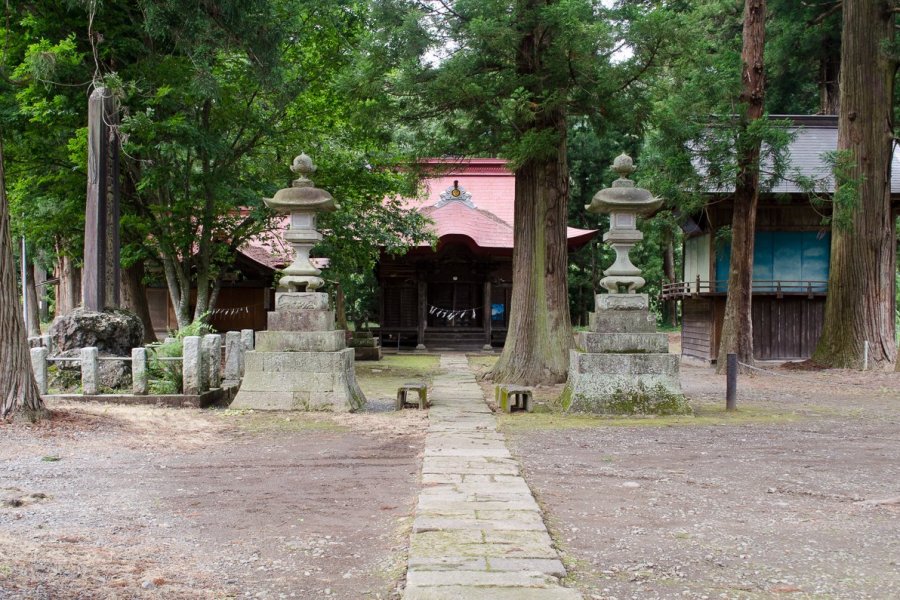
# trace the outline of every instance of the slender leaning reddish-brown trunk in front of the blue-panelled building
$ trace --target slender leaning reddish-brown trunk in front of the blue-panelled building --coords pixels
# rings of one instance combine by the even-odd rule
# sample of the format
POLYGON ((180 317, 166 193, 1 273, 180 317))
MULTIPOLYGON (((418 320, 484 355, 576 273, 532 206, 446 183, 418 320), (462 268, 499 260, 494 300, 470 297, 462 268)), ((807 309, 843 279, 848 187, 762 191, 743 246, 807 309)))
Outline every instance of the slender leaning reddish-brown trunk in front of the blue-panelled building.
POLYGON ((743 49, 741 50, 740 101, 744 105, 737 142, 738 176, 734 189, 734 213, 731 218, 731 263, 728 271, 728 297, 716 371, 726 367, 726 356, 737 354, 738 361, 753 364, 753 242, 756 233, 756 207, 759 204, 760 140, 749 133, 753 121, 763 115, 765 69, 763 50, 766 41, 766 0, 744 3, 743 49), (752 136, 752 137, 751 137, 752 136))

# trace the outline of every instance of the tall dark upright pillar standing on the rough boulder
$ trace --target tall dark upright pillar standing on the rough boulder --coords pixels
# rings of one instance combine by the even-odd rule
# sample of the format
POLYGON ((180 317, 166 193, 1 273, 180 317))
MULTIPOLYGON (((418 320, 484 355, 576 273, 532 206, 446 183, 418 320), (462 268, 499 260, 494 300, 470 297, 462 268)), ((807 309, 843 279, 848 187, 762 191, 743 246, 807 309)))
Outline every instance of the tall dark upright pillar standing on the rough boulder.
POLYGON ((119 153, 112 94, 98 87, 88 100, 87 204, 84 225, 84 307, 119 306, 119 153))

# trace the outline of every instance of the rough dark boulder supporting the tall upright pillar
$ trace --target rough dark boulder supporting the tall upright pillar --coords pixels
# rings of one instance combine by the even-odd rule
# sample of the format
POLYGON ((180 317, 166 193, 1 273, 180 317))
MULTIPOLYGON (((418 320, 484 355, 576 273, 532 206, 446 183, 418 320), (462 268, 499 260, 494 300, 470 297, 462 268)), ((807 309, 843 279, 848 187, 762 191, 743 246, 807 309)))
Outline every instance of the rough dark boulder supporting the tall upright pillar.
POLYGON ((53 321, 50 337, 54 350, 60 354, 93 346, 101 355, 130 357, 131 349, 144 343, 144 324, 127 310, 95 312, 77 308, 53 321))

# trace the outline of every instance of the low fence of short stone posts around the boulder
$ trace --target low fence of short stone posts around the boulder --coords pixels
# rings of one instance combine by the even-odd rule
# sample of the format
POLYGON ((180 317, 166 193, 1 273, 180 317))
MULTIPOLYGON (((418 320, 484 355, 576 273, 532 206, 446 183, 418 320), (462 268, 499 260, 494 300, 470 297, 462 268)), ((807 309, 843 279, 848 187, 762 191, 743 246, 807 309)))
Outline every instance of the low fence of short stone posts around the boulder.
MULTIPOLYGON (((44 336, 48 337, 48 336, 44 336)), ((187 336, 182 339, 180 357, 157 356, 163 362, 181 362, 182 395, 201 396, 210 390, 237 385, 244 374, 244 353, 253 350, 252 329, 229 331, 224 344, 221 334, 187 336), (224 347, 224 369, 222 368, 224 347), (224 375, 224 377, 223 377, 224 375)), ((40 338, 43 342, 43 338, 40 338)), ((82 348, 78 358, 51 357, 49 339, 31 349, 31 367, 41 395, 48 394, 48 370, 51 363, 77 362, 81 366, 81 392, 83 396, 98 395, 100 361, 120 361, 131 363, 131 393, 147 396, 150 393, 148 360, 152 348, 140 347, 131 350, 131 357, 100 356, 97 348, 82 348)))

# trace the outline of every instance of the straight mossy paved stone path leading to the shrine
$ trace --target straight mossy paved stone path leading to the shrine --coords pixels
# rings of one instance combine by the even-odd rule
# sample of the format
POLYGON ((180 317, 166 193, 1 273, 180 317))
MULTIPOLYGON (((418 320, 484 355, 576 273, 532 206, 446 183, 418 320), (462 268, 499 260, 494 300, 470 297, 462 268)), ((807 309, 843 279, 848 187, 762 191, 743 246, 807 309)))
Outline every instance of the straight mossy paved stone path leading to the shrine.
POLYGON ((442 355, 404 600, 580 600, 464 355, 442 355))

